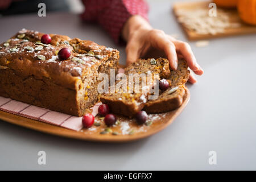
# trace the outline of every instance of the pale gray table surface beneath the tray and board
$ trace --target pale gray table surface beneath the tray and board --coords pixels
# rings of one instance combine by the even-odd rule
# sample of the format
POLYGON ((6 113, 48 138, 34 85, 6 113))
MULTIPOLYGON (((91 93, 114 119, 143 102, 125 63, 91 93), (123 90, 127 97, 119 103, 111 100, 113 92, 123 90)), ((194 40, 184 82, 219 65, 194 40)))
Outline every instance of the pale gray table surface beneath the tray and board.
MULTIPOLYGON (((186 40, 171 3, 150 1, 150 22, 186 40)), ((125 47, 77 15, 10 16, 1 18, 0 24, 1 42, 25 27, 117 48, 125 63, 125 47)), ((188 84, 191 100, 171 126, 137 142, 113 144, 55 137, 1 121, 0 169, 256 169, 256 35, 214 39, 203 48, 195 42, 191 46, 205 74, 197 84, 188 84), (46 165, 38 164, 41 150, 46 151, 46 165), (208 163, 209 151, 217 152, 216 165, 208 163)))

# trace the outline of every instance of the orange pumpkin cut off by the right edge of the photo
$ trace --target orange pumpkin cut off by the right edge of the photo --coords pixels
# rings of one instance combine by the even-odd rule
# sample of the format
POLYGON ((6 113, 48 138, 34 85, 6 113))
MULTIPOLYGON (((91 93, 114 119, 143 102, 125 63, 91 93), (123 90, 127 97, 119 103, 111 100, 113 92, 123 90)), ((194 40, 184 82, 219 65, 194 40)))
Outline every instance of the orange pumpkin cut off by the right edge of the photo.
POLYGON ((238 0, 237 9, 245 23, 256 25, 256 0, 238 0))

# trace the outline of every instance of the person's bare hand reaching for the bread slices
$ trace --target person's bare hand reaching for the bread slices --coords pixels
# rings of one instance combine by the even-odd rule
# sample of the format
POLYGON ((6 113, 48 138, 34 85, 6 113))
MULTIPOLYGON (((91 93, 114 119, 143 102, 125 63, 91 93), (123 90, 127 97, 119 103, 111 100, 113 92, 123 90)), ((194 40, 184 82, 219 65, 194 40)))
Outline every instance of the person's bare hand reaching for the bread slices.
MULTIPOLYGON (((165 34, 162 30, 153 29, 141 16, 131 16, 122 31, 123 38, 127 41, 126 63, 135 62, 139 57, 145 56, 151 48, 164 51, 170 61, 172 69, 177 68, 177 57, 184 57, 188 67, 196 75, 202 75, 203 69, 197 64, 195 56, 188 43, 182 42, 165 34)), ((190 75, 189 82, 196 82, 195 76, 190 75)))

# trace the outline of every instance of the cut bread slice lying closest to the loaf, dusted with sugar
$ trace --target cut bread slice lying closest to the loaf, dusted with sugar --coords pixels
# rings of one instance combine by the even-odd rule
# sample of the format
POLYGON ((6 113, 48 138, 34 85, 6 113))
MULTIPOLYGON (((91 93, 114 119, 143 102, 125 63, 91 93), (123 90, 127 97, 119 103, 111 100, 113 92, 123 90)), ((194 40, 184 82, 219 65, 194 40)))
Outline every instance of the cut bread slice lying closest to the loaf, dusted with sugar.
MULTIPOLYGON (((116 90, 116 93, 106 93, 102 94, 100 97, 101 102, 108 104, 112 113, 122 114, 127 117, 133 117, 138 111, 142 110, 146 102, 148 101, 148 95, 150 87, 154 86, 155 77, 154 74, 158 74, 157 79, 170 78, 170 68, 169 61, 167 59, 139 59, 135 63, 129 65, 125 68, 125 75, 127 76, 130 73, 145 74, 148 76, 148 73, 151 73, 152 76, 147 78, 147 87, 143 89, 142 83, 140 82, 140 91, 141 93, 123 93, 122 90, 118 93, 119 90, 116 90)), ((120 81, 120 80, 119 80, 120 81)), ((119 81, 115 82, 115 85, 119 81)), ((134 80, 135 81, 135 80, 134 80)), ((128 83, 128 81, 127 81, 128 83)), ((127 84, 127 89, 129 85, 127 84)), ((134 88, 134 87, 133 87, 134 88)), ((133 90, 134 91, 134 90, 133 90)))

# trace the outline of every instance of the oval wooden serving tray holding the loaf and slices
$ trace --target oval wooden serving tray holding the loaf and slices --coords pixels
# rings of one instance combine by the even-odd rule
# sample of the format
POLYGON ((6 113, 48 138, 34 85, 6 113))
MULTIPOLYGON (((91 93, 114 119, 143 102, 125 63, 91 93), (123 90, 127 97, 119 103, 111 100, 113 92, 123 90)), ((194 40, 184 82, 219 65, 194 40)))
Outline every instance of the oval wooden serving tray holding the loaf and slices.
MULTIPOLYGON (((117 116, 118 120, 122 122, 127 122, 130 125, 129 131, 134 131, 133 134, 100 134, 102 130, 105 129, 104 125, 101 126, 93 126, 90 129, 82 129, 80 131, 73 131, 69 129, 65 129, 63 127, 51 125, 48 123, 36 121, 34 119, 28 119, 21 117, 19 115, 6 113, 5 111, 0 111, 0 119, 3 121, 13 123, 14 125, 19 125, 26 127, 28 129, 41 131, 43 133, 58 135, 61 137, 67 138, 75 138, 81 140, 88 141, 97 141, 97 142, 128 142, 133 140, 138 140, 141 138, 149 137, 155 133, 158 133, 160 130, 163 130, 168 125, 170 125, 174 119, 181 113, 181 111, 188 104, 190 93, 187 88, 185 88, 185 96, 183 100, 183 104, 177 108, 176 110, 170 111, 168 113, 163 114, 150 114, 149 118, 152 120, 152 124, 150 126, 146 125, 138 125, 135 122, 135 119, 127 119, 121 116, 117 116)), ((96 120, 99 119, 96 117, 96 120)), ((111 127, 113 131, 120 131, 122 126, 111 127)), ((119 132, 120 133, 120 132, 119 132)))

